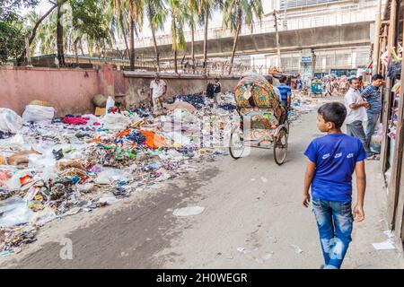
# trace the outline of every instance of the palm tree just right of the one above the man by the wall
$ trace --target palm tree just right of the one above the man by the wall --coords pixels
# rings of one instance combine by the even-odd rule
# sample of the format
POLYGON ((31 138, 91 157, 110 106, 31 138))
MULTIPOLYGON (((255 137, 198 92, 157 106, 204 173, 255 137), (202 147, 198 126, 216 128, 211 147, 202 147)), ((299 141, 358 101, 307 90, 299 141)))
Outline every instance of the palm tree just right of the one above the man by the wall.
POLYGON ((172 52, 174 53, 174 72, 178 74, 178 52, 185 51, 187 43, 184 35, 184 22, 188 17, 186 3, 183 0, 168 0, 171 16, 172 52))

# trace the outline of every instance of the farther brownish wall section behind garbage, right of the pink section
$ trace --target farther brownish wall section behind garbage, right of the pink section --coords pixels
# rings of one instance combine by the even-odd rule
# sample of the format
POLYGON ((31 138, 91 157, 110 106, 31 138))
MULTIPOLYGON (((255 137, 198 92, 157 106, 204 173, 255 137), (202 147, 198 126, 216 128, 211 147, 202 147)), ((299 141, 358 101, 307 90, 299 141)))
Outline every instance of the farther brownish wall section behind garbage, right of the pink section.
MULTIPOLYGON (((150 99, 150 82, 154 79, 153 73, 140 74, 126 72, 125 77, 128 79, 128 92, 127 92, 127 105, 137 106, 141 102, 150 99)), ((166 100, 171 100, 175 95, 179 94, 193 94, 201 91, 206 91, 207 83, 214 83, 214 77, 204 77, 201 75, 183 74, 161 74, 162 80, 167 83, 166 100)), ((222 92, 234 90, 238 77, 223 76, 220 78, 222 83, 222 92)))

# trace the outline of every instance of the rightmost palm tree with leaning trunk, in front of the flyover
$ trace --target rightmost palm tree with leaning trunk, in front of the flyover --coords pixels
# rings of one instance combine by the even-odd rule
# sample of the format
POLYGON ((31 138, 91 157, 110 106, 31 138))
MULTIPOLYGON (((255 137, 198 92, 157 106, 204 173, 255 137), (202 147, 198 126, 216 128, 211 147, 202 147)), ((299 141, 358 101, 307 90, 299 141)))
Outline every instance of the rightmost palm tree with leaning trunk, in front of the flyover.
POLYGON ((222 5, 224 28, 231 29, 234 35, 233 52, 230 59, 229 74, 232 74, 234 56, 237 49, 242 24, 251 26, 254 17, 262 20, 264 14, 262 0, 224 0, 222 5))

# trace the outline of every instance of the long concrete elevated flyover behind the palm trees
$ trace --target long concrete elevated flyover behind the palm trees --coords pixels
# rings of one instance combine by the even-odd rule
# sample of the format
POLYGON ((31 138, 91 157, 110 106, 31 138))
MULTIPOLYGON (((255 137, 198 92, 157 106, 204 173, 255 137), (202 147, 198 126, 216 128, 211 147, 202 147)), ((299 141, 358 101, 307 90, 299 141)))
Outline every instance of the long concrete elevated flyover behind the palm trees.
MULTIPOLYGON (((288 19, 287 27, 279 26, 281 51, 299 51, 303 48, 343 48, 367 46, 373 35, 374 7, 346 12, 336 11, 322 14, 304 14, 288 19)), ((237 55, 273 53, 277 51, 276 31, 273 20, 255 23, 252 27, 243 26, 237 47, 237 55)), ((188 45, 187 58, 190 57, 190 32, 186 32, 188 45)), ((195 34, 195 54, 203 57, 204 31, 195 34)), ((162 60, 171 60, 171 36, 162 35, 157 39, 162 60)), ((208 31, 208 57, 228 57, 232 54, 233 34, 221 28, 208 31)), ((136 53, 154 55, 152 38, 137 39, 136 53)), ((179 55, 183 57, 183 55, 179 55)))

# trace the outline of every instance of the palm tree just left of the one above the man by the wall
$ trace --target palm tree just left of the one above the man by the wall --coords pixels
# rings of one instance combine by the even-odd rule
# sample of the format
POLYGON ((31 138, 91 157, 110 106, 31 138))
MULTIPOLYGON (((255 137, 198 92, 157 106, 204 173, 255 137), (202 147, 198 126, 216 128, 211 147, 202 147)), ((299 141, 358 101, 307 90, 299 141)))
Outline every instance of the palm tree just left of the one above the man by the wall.
POLYGON ((135 32, 143 26, 145 0, 127 0, 129 9, 130 70, 135 71, 135 32))

